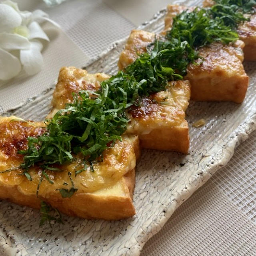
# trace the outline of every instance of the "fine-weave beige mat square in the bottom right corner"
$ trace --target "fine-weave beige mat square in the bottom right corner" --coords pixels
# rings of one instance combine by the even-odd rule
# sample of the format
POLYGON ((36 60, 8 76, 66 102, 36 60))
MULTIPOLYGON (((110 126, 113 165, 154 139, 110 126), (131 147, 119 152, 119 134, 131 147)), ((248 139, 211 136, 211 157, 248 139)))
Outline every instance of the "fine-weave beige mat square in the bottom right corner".
POLYGON ((256 255, 256 227, 209 181, 182 204, 141 256, 256 255))

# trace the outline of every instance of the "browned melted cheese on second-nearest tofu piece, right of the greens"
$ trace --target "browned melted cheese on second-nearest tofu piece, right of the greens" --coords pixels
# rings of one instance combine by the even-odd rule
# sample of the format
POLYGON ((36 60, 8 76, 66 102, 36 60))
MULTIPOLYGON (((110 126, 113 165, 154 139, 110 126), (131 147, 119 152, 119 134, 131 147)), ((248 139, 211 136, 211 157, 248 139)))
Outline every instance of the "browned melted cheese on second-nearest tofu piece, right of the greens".
POLYGON ((169 82, 165 91, 144 97, 140 106, 128 111, 127 133, 148 134, 156 128, 180 126, 190 99, 190 84, 186 80, 169 82))

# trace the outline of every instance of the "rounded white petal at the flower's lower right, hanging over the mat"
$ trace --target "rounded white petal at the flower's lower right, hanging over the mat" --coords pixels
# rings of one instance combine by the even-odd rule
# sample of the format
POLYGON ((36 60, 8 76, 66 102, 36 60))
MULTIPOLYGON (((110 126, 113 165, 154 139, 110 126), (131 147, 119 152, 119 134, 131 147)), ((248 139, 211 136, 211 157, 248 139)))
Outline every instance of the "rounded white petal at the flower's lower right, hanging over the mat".
POLYGON ((44 64, 41 54, 42 43, 39 41, 31 42, 29 50, 20 50, 20 61, 28 75, 38 73, 44 64))

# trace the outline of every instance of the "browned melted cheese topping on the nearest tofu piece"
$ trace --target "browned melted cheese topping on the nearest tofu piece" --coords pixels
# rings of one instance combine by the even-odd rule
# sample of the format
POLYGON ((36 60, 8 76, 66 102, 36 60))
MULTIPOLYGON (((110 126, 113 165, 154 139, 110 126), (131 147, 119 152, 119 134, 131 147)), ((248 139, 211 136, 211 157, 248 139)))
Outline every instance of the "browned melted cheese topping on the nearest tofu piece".
MULTIPOLYGON (((13 121, 14 116, 0 117, 0 171, 18 167, 23 162, 23 156, 18 150, 27 148, 28 136, 39 136, 45 131, 43 123, 30 123, 23 120, 13 121)), ((72 184, 68 172, 72 173, 74 187, 80 193, 94 192, 103 188, 113 186, 132 170, 136 165, 136 154, 138 154, 138 137, 122 136, 122 141, 117 141, 113 148, 103 153, 103 161, 93 165, 94 172, 88 167, 85 171, 75 176, 75 170, 83 168, 82 156, 77 155, 76 161, 71 164, 57 166, 62 172, 46 171, 54 184, 43 180, 39 196, 51 196, 56 189, 70 189, 72 184), (65 185, 66 182, 68 185, 65 185), (51 192, 52 191, 52 192, 51 192)), ((32 181, 28 181, 22 174, 23 170, 12 170, 0 174, 0 184, 4 186, 17 186, 23 194, 35 194, 41 177, 40 167, 30 168, 29 173, 32 181)))

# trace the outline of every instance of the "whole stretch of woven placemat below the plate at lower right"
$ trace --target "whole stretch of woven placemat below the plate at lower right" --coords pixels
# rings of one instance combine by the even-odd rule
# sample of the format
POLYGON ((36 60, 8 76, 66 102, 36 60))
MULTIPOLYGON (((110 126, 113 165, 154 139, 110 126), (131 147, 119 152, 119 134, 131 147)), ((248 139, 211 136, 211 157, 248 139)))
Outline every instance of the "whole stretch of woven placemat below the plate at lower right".
POLYGON ((256 132, 182 204, 141 256, 256 255, 256 132))

